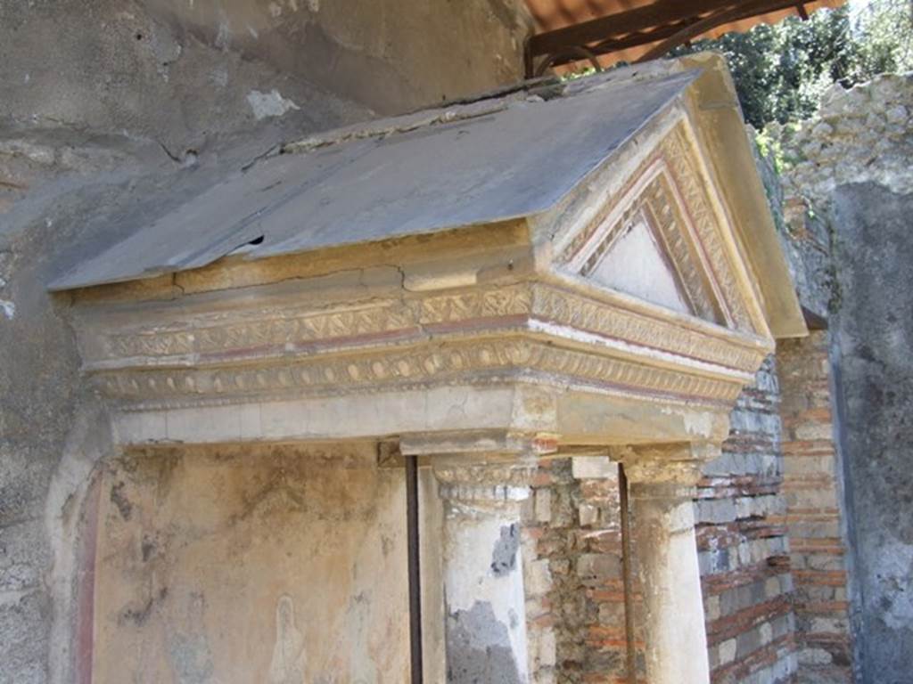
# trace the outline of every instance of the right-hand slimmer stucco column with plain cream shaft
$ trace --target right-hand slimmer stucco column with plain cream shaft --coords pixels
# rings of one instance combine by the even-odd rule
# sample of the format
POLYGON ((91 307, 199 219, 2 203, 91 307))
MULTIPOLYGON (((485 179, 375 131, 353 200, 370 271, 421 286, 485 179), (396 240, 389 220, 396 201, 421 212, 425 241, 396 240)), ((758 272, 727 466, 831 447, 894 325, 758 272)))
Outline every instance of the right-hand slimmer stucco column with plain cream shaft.
POLYGON ((627 450, 623 459, 644 595, 649 684, 710 680, 693 505, 704 461, 695 456, 706 454, 685 445, 627 450))

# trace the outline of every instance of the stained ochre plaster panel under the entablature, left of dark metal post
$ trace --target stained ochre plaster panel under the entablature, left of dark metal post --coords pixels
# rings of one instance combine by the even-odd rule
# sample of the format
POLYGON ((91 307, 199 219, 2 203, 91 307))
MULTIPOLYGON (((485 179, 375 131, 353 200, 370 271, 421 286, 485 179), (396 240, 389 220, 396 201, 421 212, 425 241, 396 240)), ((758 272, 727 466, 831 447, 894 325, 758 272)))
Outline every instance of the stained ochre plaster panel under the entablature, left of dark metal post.
POLYGON ((100 482, 94 682, 408 679, 405 488, 372 444, 131 453, 100 482))

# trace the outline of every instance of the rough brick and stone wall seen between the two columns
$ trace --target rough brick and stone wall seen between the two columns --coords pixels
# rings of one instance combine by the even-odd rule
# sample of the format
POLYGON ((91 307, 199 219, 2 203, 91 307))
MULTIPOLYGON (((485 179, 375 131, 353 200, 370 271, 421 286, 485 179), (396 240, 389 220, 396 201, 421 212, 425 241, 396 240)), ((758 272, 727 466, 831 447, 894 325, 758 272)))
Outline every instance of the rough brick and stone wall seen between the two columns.
POLYGON ((626 681, 618 511, 618 469, 608 458, 540 467, 523 548, 533 681, 626 681))

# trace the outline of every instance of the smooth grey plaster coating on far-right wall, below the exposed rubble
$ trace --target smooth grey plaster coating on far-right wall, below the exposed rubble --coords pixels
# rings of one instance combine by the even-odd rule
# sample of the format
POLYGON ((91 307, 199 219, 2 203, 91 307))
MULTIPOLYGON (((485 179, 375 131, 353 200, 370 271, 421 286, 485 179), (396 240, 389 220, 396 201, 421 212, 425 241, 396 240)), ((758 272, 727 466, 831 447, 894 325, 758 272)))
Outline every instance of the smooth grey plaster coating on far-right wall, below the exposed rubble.
MULTIPOLYGON (((913 160, 911 160, 913 161, 913 160)), ((875 183, 834 192, 845 396, 866 684, 913 671, 913 194, 875 183)))

